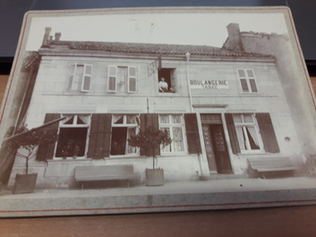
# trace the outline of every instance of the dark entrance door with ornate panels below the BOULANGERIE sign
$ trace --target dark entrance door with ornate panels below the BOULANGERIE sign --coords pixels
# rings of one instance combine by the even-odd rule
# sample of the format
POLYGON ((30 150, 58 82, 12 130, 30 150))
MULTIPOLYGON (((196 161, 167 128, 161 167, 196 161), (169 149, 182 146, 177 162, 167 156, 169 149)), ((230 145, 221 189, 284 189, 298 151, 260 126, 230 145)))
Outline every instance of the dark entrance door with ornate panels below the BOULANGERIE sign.
POLYGON ((209 171, 217 171, 218 174, 232 174, 220 114, 201 114, 201 122, 209 171))

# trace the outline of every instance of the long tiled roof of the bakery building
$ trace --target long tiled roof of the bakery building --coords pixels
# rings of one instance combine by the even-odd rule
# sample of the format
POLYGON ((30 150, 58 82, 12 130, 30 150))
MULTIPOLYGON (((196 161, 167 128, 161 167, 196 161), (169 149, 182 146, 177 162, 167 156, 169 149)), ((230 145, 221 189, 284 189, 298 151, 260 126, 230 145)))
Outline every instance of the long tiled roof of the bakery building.
POLYGON ((147 44, 147 43, 119 43, 119 42, 91 42, 91 41, 51 41, 42 50, 64 51, 100 51, 115 53, 140 53, 140 54, 160 54, 160 55, 219 55, 219 56, 260 56, 269 55, 249 54, 243 52, 233 52, 221 47, 192 46, 192 45, 167 45, 167 44, 147 44))

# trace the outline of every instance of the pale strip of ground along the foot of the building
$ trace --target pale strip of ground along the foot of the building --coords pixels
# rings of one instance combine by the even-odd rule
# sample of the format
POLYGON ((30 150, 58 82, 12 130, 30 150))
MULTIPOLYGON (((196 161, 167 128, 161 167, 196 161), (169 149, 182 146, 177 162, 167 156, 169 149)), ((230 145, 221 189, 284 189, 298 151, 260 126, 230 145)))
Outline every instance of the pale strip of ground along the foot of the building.
POLYGON ((49 189, 35 190, 33 193, 13 194, 12 190, 0 191, 2 199, 58 199, 75 197, 113 197, 184 193, 241 192, 262 190, 316 189, 316 177, 288 177, 279 179, 227 179, 208 181, 166 182, 163 186, 140 184, 132 187, 107 189, 49 189))

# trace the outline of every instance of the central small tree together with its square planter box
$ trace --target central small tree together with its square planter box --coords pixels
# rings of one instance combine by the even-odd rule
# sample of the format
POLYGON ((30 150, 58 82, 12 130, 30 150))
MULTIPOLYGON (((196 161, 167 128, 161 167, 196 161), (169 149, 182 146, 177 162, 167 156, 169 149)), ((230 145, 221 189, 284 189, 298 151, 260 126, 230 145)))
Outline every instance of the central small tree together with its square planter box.
POLYGON ((145 170, 146 185, 158 186, 164 184, 164 170, 155 167, 155 160, 157 159, 158 149, 166 147, 171 141, 167 131, 157 130, 152 126, 131 136, 128 140, 130 146, 141 148, 145 151, 146 155, 150 154, 152 156, 152 169, 145 170))

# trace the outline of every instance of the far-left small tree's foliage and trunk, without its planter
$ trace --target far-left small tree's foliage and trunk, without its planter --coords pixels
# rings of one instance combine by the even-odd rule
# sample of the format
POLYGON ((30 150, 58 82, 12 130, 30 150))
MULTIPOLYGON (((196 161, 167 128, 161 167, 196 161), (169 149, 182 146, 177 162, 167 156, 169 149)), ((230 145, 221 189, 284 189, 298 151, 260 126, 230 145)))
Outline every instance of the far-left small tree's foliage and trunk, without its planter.
POLYGON ((37 154, 38 146, 54 143, 58 139, 56 131, 51 128, 29 131, 26 126, 23 126, 16 135, 13 140, 5 142, 5 147, 18 149, 16 156, 25 158, 25 174, 29 173, 29 160, 37 154), (22 135, 18 136, 19 134, 22 135), (23 150, 19 150, 19 148, 23 148, 23 150))

